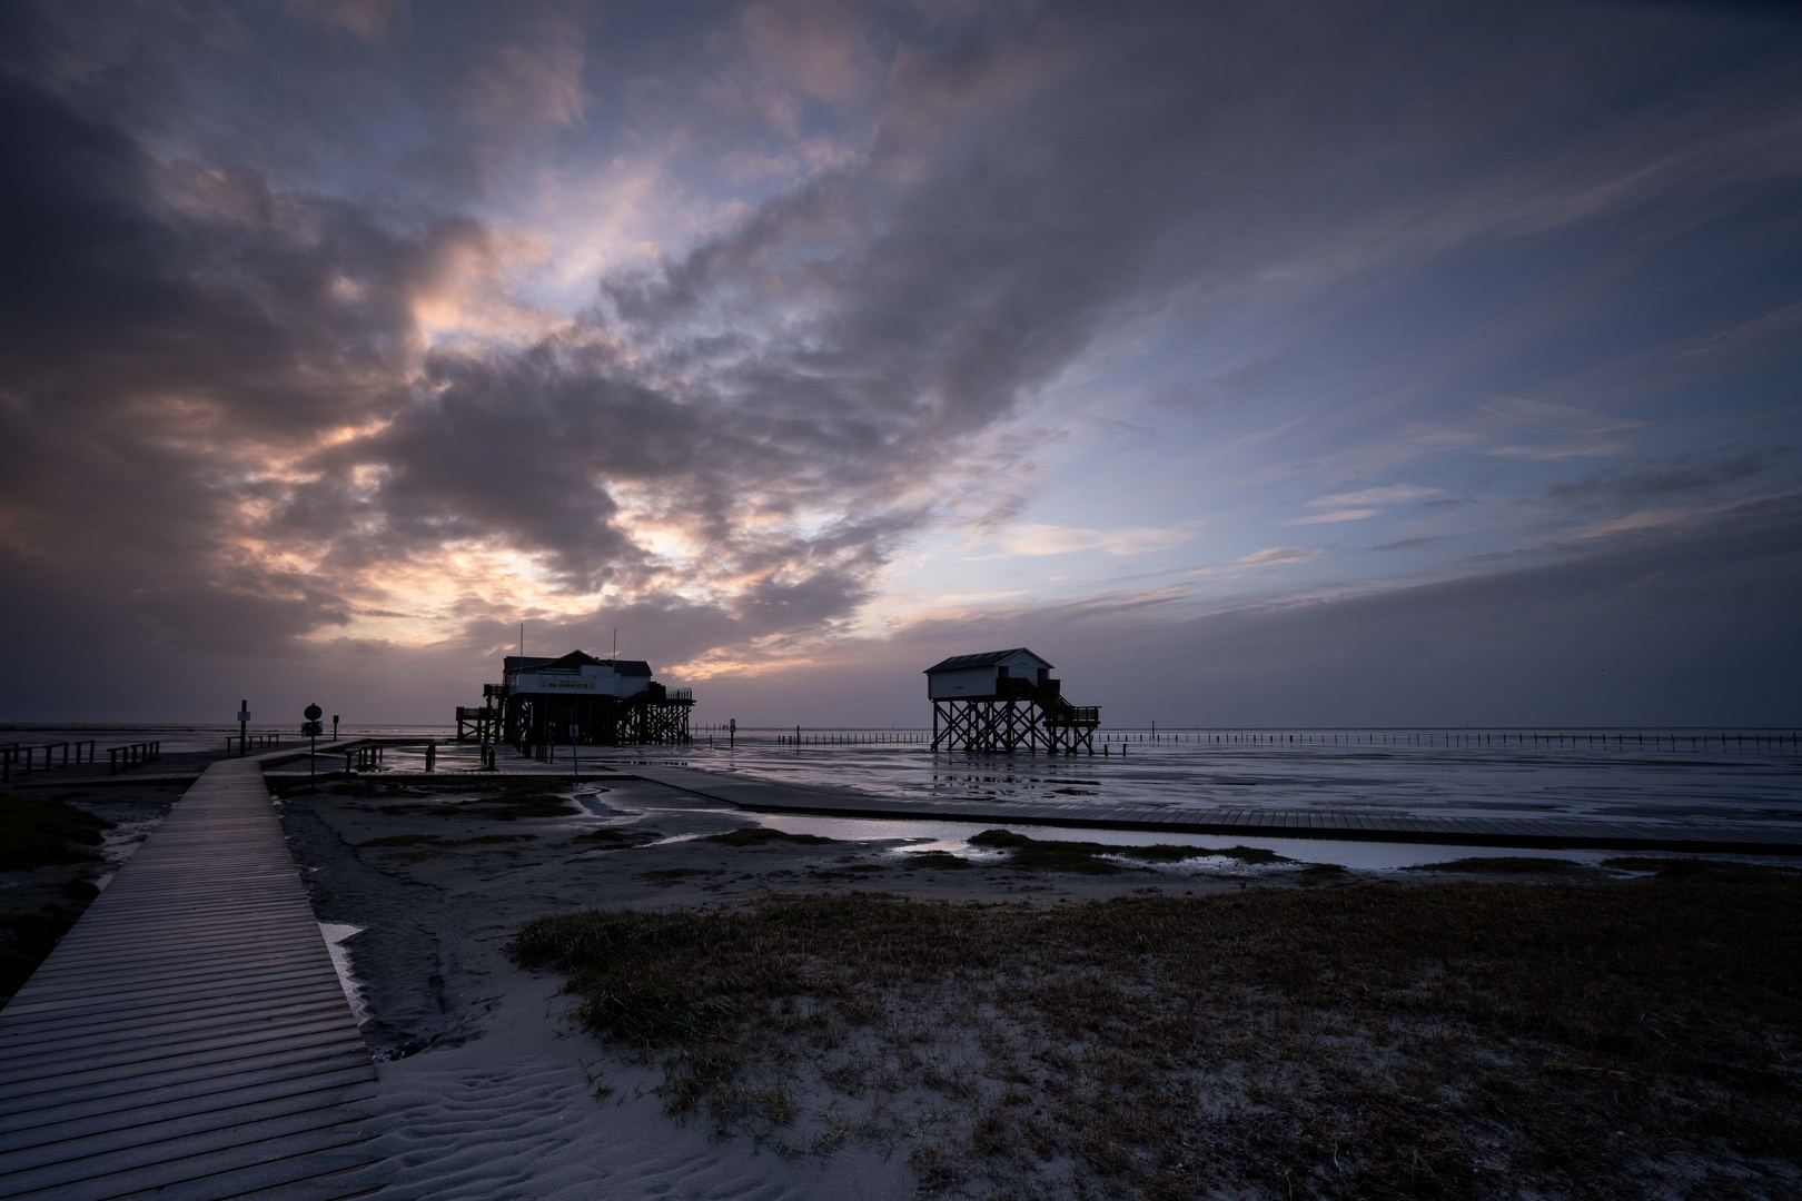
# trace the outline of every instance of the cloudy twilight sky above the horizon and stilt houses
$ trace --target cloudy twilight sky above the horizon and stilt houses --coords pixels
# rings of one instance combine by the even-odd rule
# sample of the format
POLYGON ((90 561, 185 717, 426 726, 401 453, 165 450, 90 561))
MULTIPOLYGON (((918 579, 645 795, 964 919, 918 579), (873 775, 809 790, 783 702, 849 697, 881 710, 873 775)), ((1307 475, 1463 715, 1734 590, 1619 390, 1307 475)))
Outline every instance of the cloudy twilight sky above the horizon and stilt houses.
POLYGON ((1791 5, 11 4, 0 157, 0 720, 1802 724, 1791 5))

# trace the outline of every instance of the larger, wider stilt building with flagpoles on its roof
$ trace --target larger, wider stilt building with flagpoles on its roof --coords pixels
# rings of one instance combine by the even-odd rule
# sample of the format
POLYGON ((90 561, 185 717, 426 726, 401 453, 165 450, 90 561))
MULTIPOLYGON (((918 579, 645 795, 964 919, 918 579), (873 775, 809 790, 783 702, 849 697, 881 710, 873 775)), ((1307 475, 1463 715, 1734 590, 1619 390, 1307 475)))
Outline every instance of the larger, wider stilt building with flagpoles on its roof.
POLYGON ((651 679, 643 659, 506 655, 479 708, 458 706, 460 742, 548 745, 683 744, 694 693, 651 679))

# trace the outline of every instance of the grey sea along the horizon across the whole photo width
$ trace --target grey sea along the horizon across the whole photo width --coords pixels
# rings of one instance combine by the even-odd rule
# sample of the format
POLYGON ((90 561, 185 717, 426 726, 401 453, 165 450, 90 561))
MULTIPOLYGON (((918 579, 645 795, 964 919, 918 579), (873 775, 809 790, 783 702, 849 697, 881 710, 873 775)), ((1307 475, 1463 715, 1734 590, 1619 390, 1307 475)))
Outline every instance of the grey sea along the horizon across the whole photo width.
MULTIPOLYGON (((164 754, 223 751, 236 726, 0 726, 0 747, 157 740, 164 754)), ((301 745, 292 727, 283 745, 301 745)), ((476 745, 447 726, 346 724, 341 736, 432 738, 441 769, 476 745)), ((1442 817, 1802 821, 1802 742, 1791 729, 1103 729, 1096 754, 964 754, 923 729, 703 729, 687 747, 578 747, 580 762, 683 763, 771 781, 930 801, 1081 801, 1321 808, 1442 817)), ((40 751, 41 754, 41 751, 40 751)), ((566 762, 568 747, 557 747, 566 762)), ((391 749, 389 771, 423 765, 391 749)))

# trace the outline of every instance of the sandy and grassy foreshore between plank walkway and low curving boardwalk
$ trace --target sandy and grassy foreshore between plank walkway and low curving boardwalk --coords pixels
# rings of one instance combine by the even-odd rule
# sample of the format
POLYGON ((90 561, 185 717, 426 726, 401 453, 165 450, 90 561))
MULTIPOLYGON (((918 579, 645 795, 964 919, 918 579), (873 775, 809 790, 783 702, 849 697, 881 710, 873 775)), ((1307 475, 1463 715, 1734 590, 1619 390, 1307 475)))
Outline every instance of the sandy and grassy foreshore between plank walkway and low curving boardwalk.
POLYGON ((1802 879, 292 792, 395 1196, 1793 1196, 1802 879))

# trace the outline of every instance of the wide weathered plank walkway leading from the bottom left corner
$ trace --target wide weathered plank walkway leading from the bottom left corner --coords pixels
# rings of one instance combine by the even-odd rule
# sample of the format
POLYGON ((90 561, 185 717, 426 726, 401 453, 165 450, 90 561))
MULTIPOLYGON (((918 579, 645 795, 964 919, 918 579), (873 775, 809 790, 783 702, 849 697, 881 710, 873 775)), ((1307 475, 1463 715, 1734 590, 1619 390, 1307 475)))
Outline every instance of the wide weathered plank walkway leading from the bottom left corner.
POLYGON ((292 754, 209 767, 0 1010, 0 1197, 369 1188, 369 1048, 263 783, 292 754))

